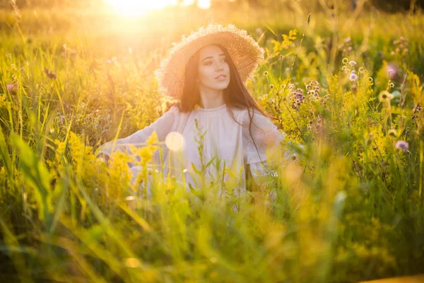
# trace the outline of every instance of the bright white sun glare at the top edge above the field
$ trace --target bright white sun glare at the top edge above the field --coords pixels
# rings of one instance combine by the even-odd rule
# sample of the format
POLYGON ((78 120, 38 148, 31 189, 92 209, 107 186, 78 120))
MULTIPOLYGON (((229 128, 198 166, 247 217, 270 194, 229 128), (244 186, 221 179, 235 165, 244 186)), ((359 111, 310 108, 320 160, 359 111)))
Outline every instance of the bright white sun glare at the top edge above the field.
MULTIPOLYGON (((105 0, 111 8, 124 16, 140 16, 149 11, 160 10, 166 6, 175 6, 178 0, 105 0)), ((193 0, 182 1, 183 5, 193 4, 193 0)), ((210 0, 199 0, 200 8, 209 8, 210 0)))

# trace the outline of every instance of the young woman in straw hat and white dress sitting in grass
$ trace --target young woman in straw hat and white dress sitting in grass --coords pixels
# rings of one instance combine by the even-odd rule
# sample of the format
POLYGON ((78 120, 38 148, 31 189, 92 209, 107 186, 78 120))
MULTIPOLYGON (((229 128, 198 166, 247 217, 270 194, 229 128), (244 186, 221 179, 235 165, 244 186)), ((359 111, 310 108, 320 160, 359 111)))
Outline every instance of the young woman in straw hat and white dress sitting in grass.
MULTIPOLYGON (((257 42, 234 25, 210 24, 182 37, 155 71, 159 91, 178 102, 152 125, 103 144, 99 154, 108 159, 112 146, 129 152, 155 132, 163 144, 155 164, 187 187, 232 179, 240 192, 247 175, 262 185, 266 151, 278 148, 283 133, 244 85, 261 59, 257 42)), ((140 169, 131 167, 133 181, 140 169)))

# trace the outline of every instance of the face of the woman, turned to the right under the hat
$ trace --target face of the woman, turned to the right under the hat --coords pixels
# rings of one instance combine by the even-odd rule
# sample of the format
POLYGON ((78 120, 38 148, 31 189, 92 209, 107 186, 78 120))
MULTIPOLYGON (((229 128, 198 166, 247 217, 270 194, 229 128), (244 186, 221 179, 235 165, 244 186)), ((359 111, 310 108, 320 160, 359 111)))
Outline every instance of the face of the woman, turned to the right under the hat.
POLYGON ((223 90, 230 84, 230 66, 223 50, 206 45, 199 50, 199 87, 223 90))

